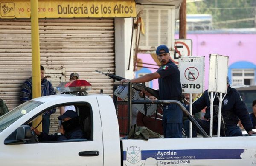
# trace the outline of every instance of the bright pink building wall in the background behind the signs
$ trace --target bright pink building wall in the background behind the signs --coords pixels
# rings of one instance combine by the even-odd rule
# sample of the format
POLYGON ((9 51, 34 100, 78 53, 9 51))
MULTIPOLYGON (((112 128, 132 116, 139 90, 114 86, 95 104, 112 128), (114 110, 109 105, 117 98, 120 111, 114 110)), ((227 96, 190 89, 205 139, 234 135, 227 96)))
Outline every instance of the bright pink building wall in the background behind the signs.
MULTIPOLYGON (((175 37, 178 39, 178 35, 175 37)), ((229 65, 239 61, 256 64, 256 34, 187 34, 187 39, 192 39, 192 56, 205 56, 205 89, 208 88, 209 54, 229 56, 229 65)), ((139 54, 138 58, 145 63, 155 64, 149 54, 139 54)), ((152 65, 143 66, 157 68, 152 65)), ((152 82, 152 87, 158 88, 157 80, 152 82)))

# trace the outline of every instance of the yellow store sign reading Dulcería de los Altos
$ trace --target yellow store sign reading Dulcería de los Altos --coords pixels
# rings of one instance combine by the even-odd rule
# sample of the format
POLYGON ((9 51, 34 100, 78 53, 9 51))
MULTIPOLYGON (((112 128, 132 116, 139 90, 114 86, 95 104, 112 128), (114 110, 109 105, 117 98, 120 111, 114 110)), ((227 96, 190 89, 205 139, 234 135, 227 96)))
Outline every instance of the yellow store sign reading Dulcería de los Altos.
MULTIPOLYGON (((29 0, 0 0, 0 18, 30 18, 29 0)), ((136 17, 134 0, 38 0, 39 18, 136 17)))

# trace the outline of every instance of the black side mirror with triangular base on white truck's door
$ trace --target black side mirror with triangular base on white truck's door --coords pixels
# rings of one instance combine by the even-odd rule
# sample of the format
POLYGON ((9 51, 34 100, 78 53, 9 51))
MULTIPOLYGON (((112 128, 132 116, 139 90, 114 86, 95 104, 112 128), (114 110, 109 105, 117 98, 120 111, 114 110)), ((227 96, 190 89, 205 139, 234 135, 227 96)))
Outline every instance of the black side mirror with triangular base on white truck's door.
POLYGON ((23 141, 31 139, 31 129, 29 125, 21 125, 4 141, 5 145, 8 144, 23 144, 23 141))

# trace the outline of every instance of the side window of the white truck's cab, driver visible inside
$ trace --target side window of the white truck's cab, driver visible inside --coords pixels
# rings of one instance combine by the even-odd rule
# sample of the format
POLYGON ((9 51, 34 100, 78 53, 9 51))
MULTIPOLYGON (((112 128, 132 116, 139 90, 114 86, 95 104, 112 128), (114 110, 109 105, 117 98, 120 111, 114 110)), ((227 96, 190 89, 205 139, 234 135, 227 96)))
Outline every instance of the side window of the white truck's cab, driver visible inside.
MULTIPOLYGON (((75 141, 90 141, 93 139, 92 133, 92 113, 90 104, 70 104, 70 105, 62 105, 61 107, 74 108, 73 110, 66 110, 62 115, 60 115, 57 107, 57 111, 51 115, 51 129, 53 132, 45 133, 38 130, 38 126, 41 124, 33 124, 34 121, 39 116, 44 117, 43 115, 47 113, 45 112, 38 115, 38 117, 31 119, 31 121, 19 127, 15 132, 13 132, 6 141, 15 140, 17 138, 19 130, 28 131, 28 127, 31 128, 31 136, 24 135, 23 143, 47 143, 47 142, 75 142, 75 141), (58 126, 58 128, 56 128, 58 126), (30 138, 28 138, 30 137, 30 138), (26 139, 25 139, 26 138, 26 139)), ((25 133, 26 134, 26 133, 25 133)))

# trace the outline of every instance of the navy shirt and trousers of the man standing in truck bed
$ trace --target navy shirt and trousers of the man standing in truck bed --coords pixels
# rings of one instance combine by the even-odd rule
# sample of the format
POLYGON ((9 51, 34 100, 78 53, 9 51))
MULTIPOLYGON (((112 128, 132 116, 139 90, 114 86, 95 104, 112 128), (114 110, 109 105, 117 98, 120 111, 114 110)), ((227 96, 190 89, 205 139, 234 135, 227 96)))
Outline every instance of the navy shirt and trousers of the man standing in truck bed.
MULTIPOLYGON (((159 96, 161 100, 181 100, 180 71, 177 66, 169 60, 158 70, 160 78, 159 96)), ((176 104, 168 104, 163 109, 163 135, 164 138, 182 137, 183 112, 176 104)))

